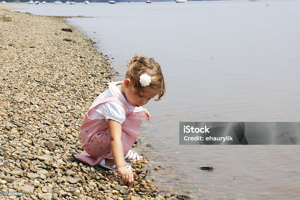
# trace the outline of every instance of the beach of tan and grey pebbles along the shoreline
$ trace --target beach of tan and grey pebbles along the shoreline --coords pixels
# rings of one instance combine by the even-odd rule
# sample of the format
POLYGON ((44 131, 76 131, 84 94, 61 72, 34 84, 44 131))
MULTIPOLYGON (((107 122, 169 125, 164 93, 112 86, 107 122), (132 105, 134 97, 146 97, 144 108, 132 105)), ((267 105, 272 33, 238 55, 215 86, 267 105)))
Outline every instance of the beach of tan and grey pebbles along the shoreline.
POLYGON ((151 171, 143 170, 146 158, 131 162, 133 186, 115 171, 74 158, 83 151, 82 119, 117 72, 63 19, 5 9, 0 7, 0 198, 188 199, 161 193, 147 179, 151 171))

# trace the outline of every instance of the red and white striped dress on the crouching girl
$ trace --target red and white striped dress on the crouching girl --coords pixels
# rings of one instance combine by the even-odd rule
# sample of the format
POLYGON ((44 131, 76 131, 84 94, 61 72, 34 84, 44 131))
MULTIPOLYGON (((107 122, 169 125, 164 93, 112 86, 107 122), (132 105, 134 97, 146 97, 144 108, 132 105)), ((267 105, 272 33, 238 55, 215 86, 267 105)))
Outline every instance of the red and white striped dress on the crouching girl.
MULTIPOLYGON (((122 123, 121 141, 123 154, 126 155, 136 141, 142 120, 147 118, 146 112, 142 107, 129 109, 127 104, 117 96, 101 98, 101 95, 95 99, 88 111, 106 102, 116 102, 125 110, 126 119, 122 123)), ((85 151, 75 155, 75 158, 89 165, 98 165, 103 158, 113 157, 108 122, 105 119, 91 119, 87 112, 80 127, 80 134, 85 151)))

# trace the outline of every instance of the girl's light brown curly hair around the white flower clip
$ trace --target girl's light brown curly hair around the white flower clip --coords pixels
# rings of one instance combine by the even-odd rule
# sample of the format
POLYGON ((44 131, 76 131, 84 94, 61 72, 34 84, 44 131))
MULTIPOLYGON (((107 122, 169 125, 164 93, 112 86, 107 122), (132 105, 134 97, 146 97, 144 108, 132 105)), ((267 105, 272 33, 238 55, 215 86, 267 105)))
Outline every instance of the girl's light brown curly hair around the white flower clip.
POLYGON ((154 61, 153 58, 147 58, 146 56, 135 56, 127 62, 127 72, 125 78, 131 80, 130 89, 133 93, 140 93, 142 96, 147 94, 143 93, 143 87, 140 84, 140 76, 142 74, 148 74, 151 76, 151 82, 149 86, 159 90, 158 98, 155 101, 161 100, 166 93, 166 86, 164 82, 163 72, 161 66, 154 61))

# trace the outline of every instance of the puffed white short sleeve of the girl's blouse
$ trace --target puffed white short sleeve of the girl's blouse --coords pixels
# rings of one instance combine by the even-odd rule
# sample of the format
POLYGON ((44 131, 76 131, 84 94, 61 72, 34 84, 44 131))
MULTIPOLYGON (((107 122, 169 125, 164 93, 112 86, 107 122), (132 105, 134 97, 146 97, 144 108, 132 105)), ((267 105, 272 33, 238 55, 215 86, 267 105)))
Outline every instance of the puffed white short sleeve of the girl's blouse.
POLYGON ((123 107, 116 102, 106 102, 95 106, 88 112, 88 117, 91 119, 109 119, 123 123, 126 119, 126 113, 123 107))

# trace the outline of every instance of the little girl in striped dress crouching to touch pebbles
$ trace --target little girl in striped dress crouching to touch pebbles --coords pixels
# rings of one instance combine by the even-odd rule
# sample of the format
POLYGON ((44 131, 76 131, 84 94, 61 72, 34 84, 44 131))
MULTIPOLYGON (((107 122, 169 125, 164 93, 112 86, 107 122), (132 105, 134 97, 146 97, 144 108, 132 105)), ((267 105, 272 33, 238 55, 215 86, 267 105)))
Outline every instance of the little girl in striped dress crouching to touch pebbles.
POLYGON ((156 101, 161 100, 166 88, 161 66, 153 58, 136 54, 127 66, 124 81, 109 83, 86 113, 80 127, 85 151, 75 157, 89 165, 117 171, 124 184, 132 185, 134 177, 127 162, 142 157, 130 149, 142 120, 150 119, 142 106, 155 96, 156 101))

